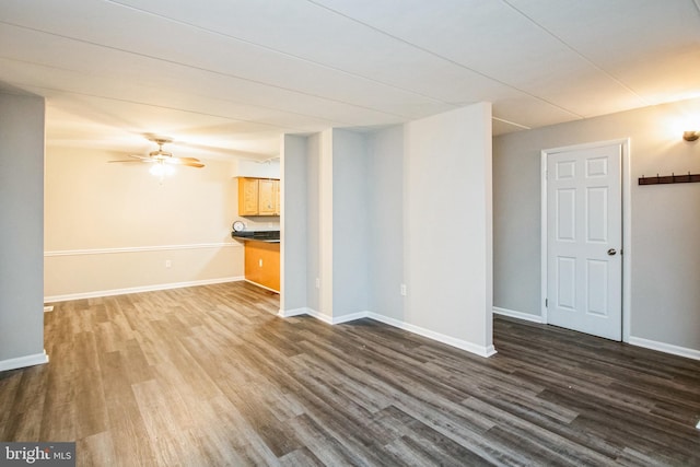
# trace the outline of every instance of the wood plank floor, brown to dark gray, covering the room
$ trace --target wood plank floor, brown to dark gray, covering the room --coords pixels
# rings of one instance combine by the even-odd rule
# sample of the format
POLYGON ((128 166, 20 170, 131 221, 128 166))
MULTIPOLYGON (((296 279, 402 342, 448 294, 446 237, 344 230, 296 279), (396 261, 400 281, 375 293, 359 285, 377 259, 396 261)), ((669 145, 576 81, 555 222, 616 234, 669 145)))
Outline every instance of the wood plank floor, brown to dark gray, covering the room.
POLYGON ((0 373, 0 441, 78 464, 700 465, 700 362, 495 318, 490 359, 244 282, 65 302, 0 373))

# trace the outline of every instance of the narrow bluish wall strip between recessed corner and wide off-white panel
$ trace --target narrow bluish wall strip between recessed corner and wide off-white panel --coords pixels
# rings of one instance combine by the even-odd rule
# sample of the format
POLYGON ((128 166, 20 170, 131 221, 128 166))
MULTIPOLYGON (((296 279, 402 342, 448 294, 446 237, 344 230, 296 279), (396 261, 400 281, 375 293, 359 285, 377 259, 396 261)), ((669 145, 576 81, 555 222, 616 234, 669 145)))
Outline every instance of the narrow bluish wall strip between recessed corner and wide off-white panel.
POLYGON ((404 320, 404 127, 376 131, 368 148, 370 311, 404 320))

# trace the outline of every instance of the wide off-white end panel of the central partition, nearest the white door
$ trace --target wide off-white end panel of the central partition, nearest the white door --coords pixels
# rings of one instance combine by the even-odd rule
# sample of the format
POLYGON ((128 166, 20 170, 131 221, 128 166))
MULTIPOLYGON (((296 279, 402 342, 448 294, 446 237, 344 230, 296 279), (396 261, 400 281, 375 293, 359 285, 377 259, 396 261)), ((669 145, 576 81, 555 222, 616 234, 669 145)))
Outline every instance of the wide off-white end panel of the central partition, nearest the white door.
POLYGON ((488 355, 491 336, 491 106, 405 126, 405 322, 488 355))

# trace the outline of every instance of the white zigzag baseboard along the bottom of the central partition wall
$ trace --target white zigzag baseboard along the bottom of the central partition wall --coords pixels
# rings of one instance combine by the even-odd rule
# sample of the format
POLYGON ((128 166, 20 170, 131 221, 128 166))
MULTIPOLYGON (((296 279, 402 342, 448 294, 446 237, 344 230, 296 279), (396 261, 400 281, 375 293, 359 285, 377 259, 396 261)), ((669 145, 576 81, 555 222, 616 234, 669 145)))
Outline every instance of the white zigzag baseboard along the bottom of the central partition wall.
POLYGON ((398 319, 389 318, 387 316, 383 316, 372 312, 358 312, 350 315, 338 316, 334 318, 328 315, 324 315, 312 308, 295 308, 295 310, 288 310, 288 311, 280 310, 280 312, 278 313, 278 316, 290 317, 290 316, 299 316, 302 314, 313 316, 314 318, 320 319, 322 322, 329 325, 338 325, 342 323, 353 322, 355 319, 370 318, 370 319, 374 319, 376 322, 384 323, 386 325, 389 325, 399 329, 407 330, 412 334, 417 334, 419 336, 427 337, 428 339, 432 339, 438 342, 446 343, 447 346, 452 346, 460 350, 466 350, 467 352, 470 352, 470 353, 476 353, 479 357, 491 357, 494 353, 497 353, 495 348, 493 346, 488 346, 488 347, 477 346, 466 340, 445 336, 443 334, 435 332, 430 329, 425 329, 419 326, 404 323, 398 319))

